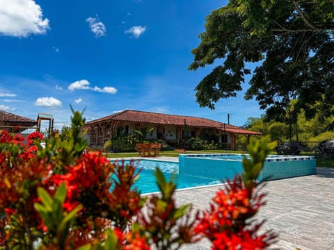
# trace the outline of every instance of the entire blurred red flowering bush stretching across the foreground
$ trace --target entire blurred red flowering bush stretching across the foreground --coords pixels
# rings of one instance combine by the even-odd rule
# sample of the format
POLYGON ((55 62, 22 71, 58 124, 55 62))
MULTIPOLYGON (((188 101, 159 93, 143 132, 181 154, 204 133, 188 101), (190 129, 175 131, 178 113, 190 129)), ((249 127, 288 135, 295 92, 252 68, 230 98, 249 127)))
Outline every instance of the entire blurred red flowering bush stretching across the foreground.
POLYGON ((272 145, 254 142, 245 172, 218 191, 206 211, 177 206, 176 185, 155 172, 161 194, 133 188, 135 163, 84 153, 84 119, 45 140, 0 131, 0 249, 177 249, 203 237, 212 249, 262 249, 275 235, 258 234, 250 218, 264 204, 256 178, 272 145), (41 146, 43 143, 43 147, 41 146), (145 206, 144 206, 145 205, 145 206))

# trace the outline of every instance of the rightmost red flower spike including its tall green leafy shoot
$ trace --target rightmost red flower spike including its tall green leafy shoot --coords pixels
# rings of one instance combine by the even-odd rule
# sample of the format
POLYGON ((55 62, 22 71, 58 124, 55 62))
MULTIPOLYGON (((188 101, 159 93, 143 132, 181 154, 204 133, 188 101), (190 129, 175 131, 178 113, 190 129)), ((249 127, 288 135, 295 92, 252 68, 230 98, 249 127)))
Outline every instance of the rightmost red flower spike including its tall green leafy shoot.
POLYGON ((269 231, 260 234, 258 229, 263 222, 250 224, 259 208, 264 205, 256 181, 262 169, 263 160, 275 144, 267 144, 252 140, 248 151, 252 160, 244 157, 245 172, 237 175, 232 182, 228 180, 225 188, 216 192, 210 209, 198 216, 196 233, 202 233, 212 241, 212 249, 264 249, 276 238, 276 234, 269 231))

